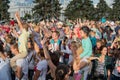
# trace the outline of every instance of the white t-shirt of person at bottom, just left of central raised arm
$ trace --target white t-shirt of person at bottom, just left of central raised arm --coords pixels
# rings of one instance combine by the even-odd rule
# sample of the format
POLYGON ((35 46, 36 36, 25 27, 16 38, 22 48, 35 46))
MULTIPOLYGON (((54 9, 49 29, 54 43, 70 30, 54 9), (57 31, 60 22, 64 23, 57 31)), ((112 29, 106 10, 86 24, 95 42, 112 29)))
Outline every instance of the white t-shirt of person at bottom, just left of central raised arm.
POLYGON ((42 60, 38 62, 37 70, 41 71, 38 80, 46 80, 47 65, 48 64, 46 60, 42 60))

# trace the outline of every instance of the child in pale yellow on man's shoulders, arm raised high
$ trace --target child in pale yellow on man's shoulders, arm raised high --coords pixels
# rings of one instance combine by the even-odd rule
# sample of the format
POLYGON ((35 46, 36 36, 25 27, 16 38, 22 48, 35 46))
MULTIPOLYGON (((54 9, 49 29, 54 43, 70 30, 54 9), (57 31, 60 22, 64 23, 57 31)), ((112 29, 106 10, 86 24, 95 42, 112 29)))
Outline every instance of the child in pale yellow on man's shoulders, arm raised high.
POLYGON ((19 49, 20 54, 16 55, 10 60, 10 65, 14 71, 16 71, 16 60, 25 58, 28 54, 27 53, 27 42, 28 42, 28 37, 29 37, 29 34, 28 34, 29 25, 27 23, 23 23, 23 24, 21 23, 20 16, 18 13, 15 14, 15 17, 19 24, 21 34, 18 37, 18 49, 19 49))

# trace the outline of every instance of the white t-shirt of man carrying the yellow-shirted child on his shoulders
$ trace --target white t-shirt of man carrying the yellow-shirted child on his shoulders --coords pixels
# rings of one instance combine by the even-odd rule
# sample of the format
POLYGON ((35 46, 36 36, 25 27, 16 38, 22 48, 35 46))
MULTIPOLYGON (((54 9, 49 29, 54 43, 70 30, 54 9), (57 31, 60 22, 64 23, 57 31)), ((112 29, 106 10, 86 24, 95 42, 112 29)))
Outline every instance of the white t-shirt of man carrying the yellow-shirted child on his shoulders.
MULTIPOLYGON (((16 65, 22 68, 24 74, 21 80, 28 80, 28 61, 26 59, 18 59, 16 65)), ((18 80, 16 78, 16 80, 18 80)))

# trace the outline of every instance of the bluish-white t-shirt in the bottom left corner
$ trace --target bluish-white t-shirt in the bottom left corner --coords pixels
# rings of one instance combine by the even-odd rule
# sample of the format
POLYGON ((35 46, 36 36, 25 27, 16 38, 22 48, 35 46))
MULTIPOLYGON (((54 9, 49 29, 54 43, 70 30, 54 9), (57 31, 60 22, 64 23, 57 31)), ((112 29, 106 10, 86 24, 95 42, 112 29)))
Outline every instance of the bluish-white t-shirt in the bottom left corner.
POLYGON ((0 80, 12 80, 10 74, 9 60, 0 58, 0 80))

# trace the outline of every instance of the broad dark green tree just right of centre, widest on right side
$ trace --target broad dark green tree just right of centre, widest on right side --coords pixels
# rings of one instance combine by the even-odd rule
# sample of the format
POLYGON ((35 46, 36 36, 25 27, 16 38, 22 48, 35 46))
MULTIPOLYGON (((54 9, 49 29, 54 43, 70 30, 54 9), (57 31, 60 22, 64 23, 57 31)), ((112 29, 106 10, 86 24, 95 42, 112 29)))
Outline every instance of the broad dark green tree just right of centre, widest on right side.
POLYGON ((73 0, 68 4, 65 10, 65 16, 68 19, 92 19, 93 14, 94 6, 91 0, 73 0))

